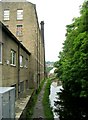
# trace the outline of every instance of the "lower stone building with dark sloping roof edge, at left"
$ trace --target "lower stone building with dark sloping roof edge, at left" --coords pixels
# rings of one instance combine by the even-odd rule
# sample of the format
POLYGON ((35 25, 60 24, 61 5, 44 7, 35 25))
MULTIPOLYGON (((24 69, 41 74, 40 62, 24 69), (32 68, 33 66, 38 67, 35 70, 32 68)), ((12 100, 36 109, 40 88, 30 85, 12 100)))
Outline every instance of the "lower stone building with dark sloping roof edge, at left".
POLYGON ((31 53, 0 22, 0 87, 15 87, 16 98, 30 89, 31 53))

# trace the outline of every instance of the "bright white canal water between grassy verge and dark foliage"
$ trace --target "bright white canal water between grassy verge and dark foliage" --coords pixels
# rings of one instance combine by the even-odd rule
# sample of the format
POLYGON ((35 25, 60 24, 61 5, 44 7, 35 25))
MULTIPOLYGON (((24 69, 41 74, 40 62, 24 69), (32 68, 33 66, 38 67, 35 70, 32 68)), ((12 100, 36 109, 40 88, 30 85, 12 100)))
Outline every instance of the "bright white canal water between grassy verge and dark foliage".
POLYGON ((51 104, 51 107, 53 108, 53 114, 54 114, 54 118, 58 118, 59 120, 59 115, 57 116, 54 112, 54 101, 56 101, 56 97, 57 96, 57 92, 60 92, 62 89, 62 86, 61 85, 58 85, 57 81, 55 82, 52 82, 51 86, 50 86, 50 95, 49 95, 49 99, 50 99, 50 104, 51 104))

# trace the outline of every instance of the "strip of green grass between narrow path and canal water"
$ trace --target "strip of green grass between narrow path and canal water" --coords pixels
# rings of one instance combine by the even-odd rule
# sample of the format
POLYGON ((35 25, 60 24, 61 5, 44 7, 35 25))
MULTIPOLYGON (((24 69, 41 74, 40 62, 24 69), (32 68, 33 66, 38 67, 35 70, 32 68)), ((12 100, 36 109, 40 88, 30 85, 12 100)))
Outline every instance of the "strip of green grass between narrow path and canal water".
POLYGON ((43 101, 42 101, 46 120, 49 120, 49 119, 54 120, 54 116, 53 116, 52 108, 50 107, 50 100, 49 100, 51 82, 52 82, 52 79, 47 79, 43 101))

